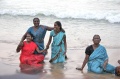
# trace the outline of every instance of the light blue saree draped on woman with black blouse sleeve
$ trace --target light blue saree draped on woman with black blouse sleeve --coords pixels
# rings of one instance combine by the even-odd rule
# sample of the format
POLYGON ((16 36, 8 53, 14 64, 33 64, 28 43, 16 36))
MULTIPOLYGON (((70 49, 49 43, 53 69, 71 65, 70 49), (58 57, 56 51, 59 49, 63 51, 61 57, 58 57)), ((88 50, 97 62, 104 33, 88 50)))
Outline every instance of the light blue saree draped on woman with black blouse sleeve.
MULTIPOLYGON (((88 71, 92 71, 95 73, 103 73, 103 64, 108 59, 108 55, 105 47, 99 45, 93 53, 90 55, 88 60, 88 71)), ((106 72, 115 73, 115 67, 107 64, 106 72)))

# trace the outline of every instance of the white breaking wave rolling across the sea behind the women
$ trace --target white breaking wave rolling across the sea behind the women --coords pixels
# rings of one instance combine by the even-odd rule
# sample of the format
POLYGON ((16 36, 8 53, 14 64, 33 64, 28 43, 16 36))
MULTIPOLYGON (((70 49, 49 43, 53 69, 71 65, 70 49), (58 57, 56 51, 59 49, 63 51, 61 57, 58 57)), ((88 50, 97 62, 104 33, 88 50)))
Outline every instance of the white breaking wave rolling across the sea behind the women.
POLYGON ((0 10, 0 15, 12 16, 55 16, 57 18, 73 18, 73 19, 86 19, 86 20, 106 20, 110 23, 120 23, 120 11, 97 11, 97 10, 83 10, 83 11, 47 11, 47 10, 31 10, 31 9, 4 9, 0 10))

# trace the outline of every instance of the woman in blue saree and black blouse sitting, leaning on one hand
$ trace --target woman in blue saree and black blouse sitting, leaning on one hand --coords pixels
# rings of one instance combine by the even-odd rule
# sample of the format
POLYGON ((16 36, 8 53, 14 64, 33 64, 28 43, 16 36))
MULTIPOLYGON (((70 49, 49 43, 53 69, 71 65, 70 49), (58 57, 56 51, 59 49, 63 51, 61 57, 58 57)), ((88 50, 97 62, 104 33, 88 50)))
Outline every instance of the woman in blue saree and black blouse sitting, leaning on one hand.
POLYGON ((108 55, 104 46, 100 45, 101 39, 99 35, 93 36, 93 45, 90 45, 86 48, 86 57, 83 61, 81 68, 76 68, 83 71, 86 63, 88 65, 88 71, 94 73, 115 73, 115 67, 108 64, 108 55))

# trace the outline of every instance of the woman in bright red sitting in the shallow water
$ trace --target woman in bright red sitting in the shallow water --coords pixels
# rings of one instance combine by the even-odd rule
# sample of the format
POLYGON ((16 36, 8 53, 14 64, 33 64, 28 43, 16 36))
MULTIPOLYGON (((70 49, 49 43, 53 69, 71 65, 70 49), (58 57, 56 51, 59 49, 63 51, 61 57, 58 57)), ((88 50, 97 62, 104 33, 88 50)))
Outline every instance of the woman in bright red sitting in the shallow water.
POLYGON ((20 64, 27 64, 32 66, 41 66, 40 63, 44 60, 44 55, 41 54, 44 52, 44 50, 39 50, 37 45, 32 41, 31 34, 26 34, 26 41, 23 42, 23 44, 18 45, 16 52, 20 52, 20 64), (34 54, 34 51, 39 52, 38 55, 34 54))

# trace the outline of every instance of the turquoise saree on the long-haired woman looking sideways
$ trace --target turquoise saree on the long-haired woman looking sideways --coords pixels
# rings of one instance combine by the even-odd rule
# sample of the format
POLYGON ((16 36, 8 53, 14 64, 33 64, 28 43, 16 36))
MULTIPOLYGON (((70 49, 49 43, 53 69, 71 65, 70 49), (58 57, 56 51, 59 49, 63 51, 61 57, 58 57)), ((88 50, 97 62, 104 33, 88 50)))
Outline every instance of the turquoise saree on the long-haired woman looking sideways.
POLYGON ((51 63, 62 63, 65 61, 65 46, 64 46, 64 37, 65 33, 59 32, 55 34, 54 30, 51 31, 50 36, 53 37, 53 42, 51 45, 51 63))

